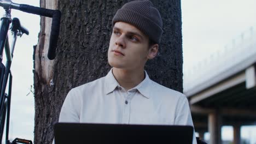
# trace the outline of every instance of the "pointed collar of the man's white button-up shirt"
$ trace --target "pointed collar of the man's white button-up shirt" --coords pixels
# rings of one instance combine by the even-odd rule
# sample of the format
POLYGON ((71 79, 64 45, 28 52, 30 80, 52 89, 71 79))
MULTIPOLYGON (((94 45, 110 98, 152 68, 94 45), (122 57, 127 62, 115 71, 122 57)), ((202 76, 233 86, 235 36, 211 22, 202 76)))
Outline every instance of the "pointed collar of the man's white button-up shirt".
MULTIPOLYGON (((115 80, 112 70, 113 68, 108 72, 108 74, 105 77, 105 87, 106 87, 105 93, 106 94, 113 92, 117 87, 121 87, 117 82, 117 80, 115 80)), ((144 70, 144 74, 145 74, 145 79, 141 83, 139 83, 139 85, 137 85, 132 89, 137 89, 138 92, 141 93, 144 97, 150 98, 150 82, 151 81, 149 79, 149 76, 146 70, 144 70)))

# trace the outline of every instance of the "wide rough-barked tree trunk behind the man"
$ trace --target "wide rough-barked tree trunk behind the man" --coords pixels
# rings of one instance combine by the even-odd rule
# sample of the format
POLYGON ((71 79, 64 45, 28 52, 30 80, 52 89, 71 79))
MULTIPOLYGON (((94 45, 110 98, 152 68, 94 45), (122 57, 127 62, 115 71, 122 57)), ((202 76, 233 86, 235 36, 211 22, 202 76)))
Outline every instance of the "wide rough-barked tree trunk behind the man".
MULTIPOLYGON (((50 0, 41 0, 41 7, 49 8, 47 1, 50 0)), ((34 56, 34 143, 51 143, 53 125, 59 119, 62 103, 71 88, 108 73, 107 50, 112 32, 111 21, 117 9, 127 1, 54 2, 62 12, 57 56, 54 61, 45 57, 45 50, 48 49, 46 25, 49 23, 44 17, 41 17, 41 31, 34 56)), ((182 92, 181 1, 152 2, 161 13, 164 34, 159 56, 147 63, 146 70, 154 81, 182 92)))

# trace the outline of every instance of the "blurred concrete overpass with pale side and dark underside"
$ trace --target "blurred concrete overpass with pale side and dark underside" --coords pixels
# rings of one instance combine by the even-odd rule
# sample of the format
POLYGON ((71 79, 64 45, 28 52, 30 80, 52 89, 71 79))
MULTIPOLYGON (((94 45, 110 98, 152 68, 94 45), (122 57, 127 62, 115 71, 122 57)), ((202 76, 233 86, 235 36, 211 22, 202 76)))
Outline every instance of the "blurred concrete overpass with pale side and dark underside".
POLYGON ((250 28, 194 68, 184 68, 187 95, 195 130, 210 143, 221 142, 222 125, 233 125, 240 143, 241 125, 256 124, 256 32, 250 28))

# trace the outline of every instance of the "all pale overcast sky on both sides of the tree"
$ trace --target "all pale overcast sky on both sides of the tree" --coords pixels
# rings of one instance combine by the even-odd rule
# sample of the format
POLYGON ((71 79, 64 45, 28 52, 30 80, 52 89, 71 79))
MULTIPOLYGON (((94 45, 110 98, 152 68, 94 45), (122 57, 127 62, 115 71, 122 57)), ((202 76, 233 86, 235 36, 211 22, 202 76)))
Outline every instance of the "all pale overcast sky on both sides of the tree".
MULTIPOLYGON (((36 0, 13 2, 39 5, 36 0)), ((223 49, 237 35, 255 26, 255 5, 254 0, 182 0, 184 67, 191 67, 211 53, 223 49)), ((11 66, 13 96, 10 137, 33 140, 34 99, 33 94, 28 93, 33 85, 32 53, 33 45, 38 40, 39 16, 18 13, 16 10, 12 11, 12 16, 20 18, 30 35, 23 35, 17 40, 11 66)), ((232 128, 225 127, 224 131, 223 138, 232 139, 232 128)), ((242 136, 248 138, 248 131, 248 128, 243 127, 242 136)))

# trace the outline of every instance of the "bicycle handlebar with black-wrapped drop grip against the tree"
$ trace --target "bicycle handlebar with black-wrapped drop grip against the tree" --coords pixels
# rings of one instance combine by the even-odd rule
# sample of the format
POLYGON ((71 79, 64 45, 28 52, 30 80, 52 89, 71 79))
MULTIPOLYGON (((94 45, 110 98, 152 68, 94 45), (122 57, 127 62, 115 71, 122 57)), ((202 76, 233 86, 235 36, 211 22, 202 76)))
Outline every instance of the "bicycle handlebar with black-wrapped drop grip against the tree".
POLYGON ((60 33, 60 20, 61 12, 60 10, 51 10, 45 8, 38 8, 27 4, 16 4, 11 1, 0 1, 0 6, 4 8, 13 8, 24 11, 26 13, 36 14, 40 16, 53 17, 53 22, 51 23, 51 33, 50 33, 50 44, 48 49, 48 58, 53 60, 56 56, 57 40, 60 33))

